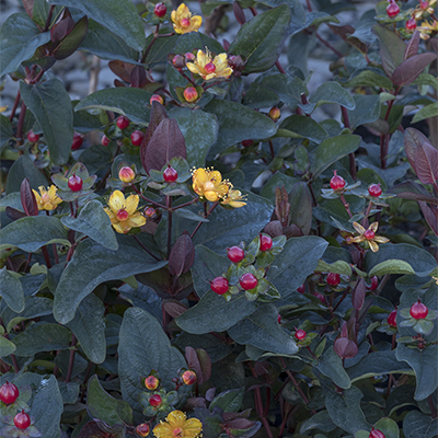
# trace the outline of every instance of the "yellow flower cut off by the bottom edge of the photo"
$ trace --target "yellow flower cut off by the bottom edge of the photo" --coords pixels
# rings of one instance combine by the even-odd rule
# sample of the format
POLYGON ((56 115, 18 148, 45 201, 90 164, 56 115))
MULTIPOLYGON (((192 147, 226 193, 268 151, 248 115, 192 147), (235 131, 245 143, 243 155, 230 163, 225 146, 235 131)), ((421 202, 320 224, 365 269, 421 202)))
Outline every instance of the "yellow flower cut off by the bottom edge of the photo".
POLYGON ((203 430, 203 424, 197 418, 188 418, 184 412, 172 411, 165 422, 160 422, 153 428, 157 438, 196 438, 203 430))

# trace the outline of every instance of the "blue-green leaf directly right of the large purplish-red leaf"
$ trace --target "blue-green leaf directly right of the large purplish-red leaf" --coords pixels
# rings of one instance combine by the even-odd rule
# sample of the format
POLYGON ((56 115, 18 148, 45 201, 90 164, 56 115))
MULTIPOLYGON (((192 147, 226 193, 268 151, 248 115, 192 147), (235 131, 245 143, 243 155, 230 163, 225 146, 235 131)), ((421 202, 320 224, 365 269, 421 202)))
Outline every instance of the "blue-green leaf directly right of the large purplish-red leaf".
POLYGON ((204 168, 208 151, 218 138, 219 124, 216 116, 200 110, 176 107, 168 115, 176 119, 183 132, 188 165, 204 168))

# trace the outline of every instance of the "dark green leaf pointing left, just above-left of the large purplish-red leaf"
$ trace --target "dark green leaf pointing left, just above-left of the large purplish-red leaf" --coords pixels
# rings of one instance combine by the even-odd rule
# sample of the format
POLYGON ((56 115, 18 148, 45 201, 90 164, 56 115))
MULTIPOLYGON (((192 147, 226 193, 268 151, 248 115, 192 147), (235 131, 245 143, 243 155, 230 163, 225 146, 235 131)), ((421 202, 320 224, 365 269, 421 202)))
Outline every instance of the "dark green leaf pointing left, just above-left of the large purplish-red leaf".
POLYGON ((113 111, 128 117, 135 123, 149 123, 149 101, 152 93, 141 89, 115 88, 96 91, 74 107, 80 110, 113 111))

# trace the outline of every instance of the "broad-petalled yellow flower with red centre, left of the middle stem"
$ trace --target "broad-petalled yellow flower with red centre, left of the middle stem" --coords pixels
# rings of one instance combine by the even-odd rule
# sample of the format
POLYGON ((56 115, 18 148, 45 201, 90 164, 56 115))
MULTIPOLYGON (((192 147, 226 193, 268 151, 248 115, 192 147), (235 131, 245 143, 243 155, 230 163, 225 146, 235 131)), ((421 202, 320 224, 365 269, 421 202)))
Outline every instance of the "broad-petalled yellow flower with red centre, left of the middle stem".
POLYGON ((110 196, 108 207, 104 210, 110 216, 111 223, 118 233, 127 233, 131 228, 141 227, 146 223, 146 218, 137 210, 138 195, 125 195, 120 191, 115 191, 110 196))

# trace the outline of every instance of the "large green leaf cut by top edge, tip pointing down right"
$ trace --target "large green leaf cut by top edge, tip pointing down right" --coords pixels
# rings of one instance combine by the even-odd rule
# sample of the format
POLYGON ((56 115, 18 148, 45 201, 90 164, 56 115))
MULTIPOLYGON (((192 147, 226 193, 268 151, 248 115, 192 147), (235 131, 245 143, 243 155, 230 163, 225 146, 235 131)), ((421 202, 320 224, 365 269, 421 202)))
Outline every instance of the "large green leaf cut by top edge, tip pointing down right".
POLYGON ((143 25, 130 0, 50 0, 49 3, 79 9, 90 19, 119 35, 134 49, 145 49, 143 25))

